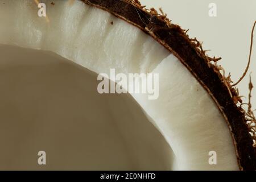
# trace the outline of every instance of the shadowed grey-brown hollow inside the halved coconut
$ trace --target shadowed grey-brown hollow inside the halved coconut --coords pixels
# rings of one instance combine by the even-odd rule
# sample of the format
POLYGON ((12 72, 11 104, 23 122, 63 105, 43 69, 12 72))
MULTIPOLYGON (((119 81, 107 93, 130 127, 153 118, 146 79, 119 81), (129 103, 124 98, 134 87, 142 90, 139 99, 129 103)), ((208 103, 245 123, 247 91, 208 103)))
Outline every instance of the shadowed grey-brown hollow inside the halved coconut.
POLYGON ((52 52, 2 45, 0 56, 0 169, 173 169, 129 94, 99 94, 96 73, 52 52))

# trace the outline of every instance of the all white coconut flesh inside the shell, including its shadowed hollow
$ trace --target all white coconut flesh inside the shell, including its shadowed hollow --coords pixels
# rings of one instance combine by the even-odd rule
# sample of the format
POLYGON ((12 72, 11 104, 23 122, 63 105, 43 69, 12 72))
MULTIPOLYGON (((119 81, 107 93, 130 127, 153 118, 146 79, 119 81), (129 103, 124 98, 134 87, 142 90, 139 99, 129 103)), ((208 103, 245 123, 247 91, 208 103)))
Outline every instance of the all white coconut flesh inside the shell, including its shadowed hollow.
POLYGON ((0 169, 238 169, 223 115, 174 55, 104 10, 42 2, 48 20, 0 1, 0 169), (112 68, 158 73, 158 99, 98 93, 112 68))

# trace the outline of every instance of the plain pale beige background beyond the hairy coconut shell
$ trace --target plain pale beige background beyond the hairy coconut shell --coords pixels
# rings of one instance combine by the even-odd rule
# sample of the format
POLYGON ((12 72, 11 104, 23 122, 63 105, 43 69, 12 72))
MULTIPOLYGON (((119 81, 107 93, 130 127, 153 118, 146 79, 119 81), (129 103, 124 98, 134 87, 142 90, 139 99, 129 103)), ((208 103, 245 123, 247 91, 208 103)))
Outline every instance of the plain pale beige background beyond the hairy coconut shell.
MULTIPOLYGON (((203 41, 205 50, 210 56, 222 57, 219 62, 225 68, 226 74, 232 73, 232 80, 237 81, 246 68, 249 57, 251 28, 256 20, 255 0, 141 0, 147 7, 162 7, 172 23, 179 24, 183 29, 189 28, 189 36, 203 41), (217 17, 210 17, 209 3, 216 3, 217 17)), ((249 73, 251 73, 255 88, 252 104, 256 109, 256 32, 254 32, 254 47, 251 66, 246 77, 238 88, 244 101, 249 93, 249 73)))

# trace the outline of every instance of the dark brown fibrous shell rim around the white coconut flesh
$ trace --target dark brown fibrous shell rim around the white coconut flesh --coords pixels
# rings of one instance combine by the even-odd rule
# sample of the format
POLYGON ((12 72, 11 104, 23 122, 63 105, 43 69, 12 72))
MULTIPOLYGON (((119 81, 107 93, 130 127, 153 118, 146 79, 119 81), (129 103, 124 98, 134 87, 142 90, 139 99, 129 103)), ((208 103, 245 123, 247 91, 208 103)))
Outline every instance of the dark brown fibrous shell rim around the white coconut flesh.
POLYGON ((231 85, 230 76, 220 72, 220 59, 205 54, 201 43, 190 39, 187 31, 172 24, 166 14, 146 9, 137 0, 80 0, 100 8, 140 28, 177 57, 210 94, 221 111, 232 135, 237 162, 241 170, 256 170, 256 148, 247 125, 248 110, 237 105, 241 97, 231 85))

